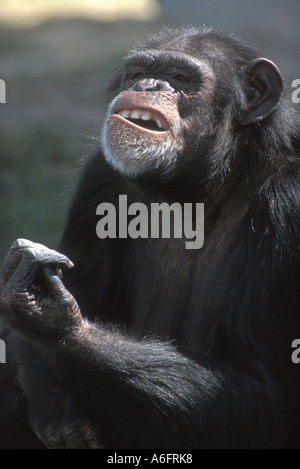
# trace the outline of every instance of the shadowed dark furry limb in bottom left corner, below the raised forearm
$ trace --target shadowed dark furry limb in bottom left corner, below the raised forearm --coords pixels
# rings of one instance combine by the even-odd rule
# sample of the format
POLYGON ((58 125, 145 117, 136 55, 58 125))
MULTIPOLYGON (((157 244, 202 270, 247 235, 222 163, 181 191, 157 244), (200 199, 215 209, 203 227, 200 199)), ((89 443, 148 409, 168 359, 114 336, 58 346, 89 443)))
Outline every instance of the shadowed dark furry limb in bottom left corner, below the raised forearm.
POLYGON ((2 336, 0 448, 102 448, 97 426, 43 348, 11 328, 2 336))

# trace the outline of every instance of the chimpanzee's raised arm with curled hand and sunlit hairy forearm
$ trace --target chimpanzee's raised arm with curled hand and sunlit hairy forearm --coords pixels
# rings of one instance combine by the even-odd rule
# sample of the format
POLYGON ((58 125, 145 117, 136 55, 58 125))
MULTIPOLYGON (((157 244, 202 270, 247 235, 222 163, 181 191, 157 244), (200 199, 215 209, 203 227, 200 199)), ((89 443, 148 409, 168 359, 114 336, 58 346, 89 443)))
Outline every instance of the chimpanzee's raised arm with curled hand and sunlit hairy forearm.
POLYGON ((264 367, 249 376, 233 363, 195 363, 169 344, 84 320, 59 275, 71 267, 62 254, 17 241, 0 275, 1 312, 51 357, 104 447, 274 444, 280 406, 264 367))

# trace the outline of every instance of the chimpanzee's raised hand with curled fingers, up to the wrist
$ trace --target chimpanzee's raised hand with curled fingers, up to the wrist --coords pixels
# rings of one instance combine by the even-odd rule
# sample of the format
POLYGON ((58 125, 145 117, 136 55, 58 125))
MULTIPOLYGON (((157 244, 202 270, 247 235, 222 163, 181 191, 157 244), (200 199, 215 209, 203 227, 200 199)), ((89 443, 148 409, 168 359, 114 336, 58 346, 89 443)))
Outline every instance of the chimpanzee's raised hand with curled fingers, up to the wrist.
POLYGON ((64 255, 41 244, 17 240, 0 272, 0 314, 32 338, 63 339, 82 316, 60 277, 73 267, 64 255))

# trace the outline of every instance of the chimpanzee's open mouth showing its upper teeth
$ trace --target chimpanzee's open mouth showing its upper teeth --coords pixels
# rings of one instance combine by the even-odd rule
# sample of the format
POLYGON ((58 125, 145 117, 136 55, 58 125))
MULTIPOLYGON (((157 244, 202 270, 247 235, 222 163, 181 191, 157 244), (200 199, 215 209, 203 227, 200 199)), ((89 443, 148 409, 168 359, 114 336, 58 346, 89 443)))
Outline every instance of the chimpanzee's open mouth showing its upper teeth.
POLYGON ((119 116, 134 127, 146 132, 166 132, 169 124, 165 117, 152 109, 119 109, 113 115, 119 116))

